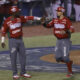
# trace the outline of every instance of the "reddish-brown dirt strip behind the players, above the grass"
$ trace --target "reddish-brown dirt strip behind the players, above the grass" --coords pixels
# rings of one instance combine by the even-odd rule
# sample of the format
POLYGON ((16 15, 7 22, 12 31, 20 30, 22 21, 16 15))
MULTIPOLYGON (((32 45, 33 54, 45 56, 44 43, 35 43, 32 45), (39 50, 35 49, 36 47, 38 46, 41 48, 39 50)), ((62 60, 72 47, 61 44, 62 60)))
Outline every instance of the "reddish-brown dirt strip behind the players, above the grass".
MULTIPOLYGON (((80 32, 80 22, 72 22, 72 25, 75 28, 75 32, 80 32)), ((25 26, 23 33, 25 37, 53 35, 53 29, 44 28, 42 25, 25 26)))

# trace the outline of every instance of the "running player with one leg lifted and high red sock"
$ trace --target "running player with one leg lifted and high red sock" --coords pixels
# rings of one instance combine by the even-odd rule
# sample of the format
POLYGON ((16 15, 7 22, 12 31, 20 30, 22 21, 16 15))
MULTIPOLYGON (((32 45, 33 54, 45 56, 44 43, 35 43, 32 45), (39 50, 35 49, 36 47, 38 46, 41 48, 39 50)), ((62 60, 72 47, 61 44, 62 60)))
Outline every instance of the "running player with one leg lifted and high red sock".
POLYGON ((68 68, 67 77, 73 75, 72 72, 72 61, 69 58, 69 51, 71 47, 71 33, 74 32, 71 21, 64 16, 65 9, 63 7, 57 8, 57 18, 51 22, 43 21, 45 27, 53 27, 54 35, 57 38, 55 47, 55 58, 57 62, 64 62, 68 68))

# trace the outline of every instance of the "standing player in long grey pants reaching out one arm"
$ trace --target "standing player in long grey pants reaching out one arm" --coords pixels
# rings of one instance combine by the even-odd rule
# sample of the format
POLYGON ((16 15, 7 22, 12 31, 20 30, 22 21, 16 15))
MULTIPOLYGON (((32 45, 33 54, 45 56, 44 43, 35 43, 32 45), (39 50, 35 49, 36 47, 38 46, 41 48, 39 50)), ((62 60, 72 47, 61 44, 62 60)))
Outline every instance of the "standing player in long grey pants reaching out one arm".
POLYGON ((26 73, 25 65, 26 65, 26 54, 25 47, 23 43, 23 32, 22 32, 22 23, 27 22, 28 20, 40 20, 39 17, 33 16, 20 16, 19 8, 17 6, 12 6, 10 8, 11 16, 8 17, 2 27, 2 38, 1 38, 1 46, 5 47, 5 35, 8 33, 9 37, 9 49, 10 49, 10 58, 11 65, 13 71, 13 78, 19 79, 20 76, 30 78, 31 75, 26 73), (19 60, 21 65, 21 73, 20 76, 17 74, 17 53, 19 54, 19 60))

